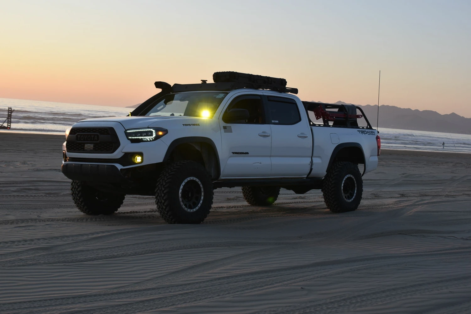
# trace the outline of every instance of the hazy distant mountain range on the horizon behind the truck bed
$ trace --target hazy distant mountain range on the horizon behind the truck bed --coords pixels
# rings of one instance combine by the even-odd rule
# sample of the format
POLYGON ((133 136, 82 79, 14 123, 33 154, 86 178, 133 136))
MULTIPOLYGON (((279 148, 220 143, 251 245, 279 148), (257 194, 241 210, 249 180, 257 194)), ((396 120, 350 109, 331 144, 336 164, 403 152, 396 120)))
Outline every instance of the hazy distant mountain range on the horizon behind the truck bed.
MULTIPOLYGON (((351 105, 338 101, 338 105, 351 105)), ((377 105, 357 105, 365 112, 368 121, 376 128, 377 105)), ((431 110, 412 110, 396 106, 381 105, 379 127, 443 133, 471 134, 471 118, 456 113, 440 114, 431 110)))

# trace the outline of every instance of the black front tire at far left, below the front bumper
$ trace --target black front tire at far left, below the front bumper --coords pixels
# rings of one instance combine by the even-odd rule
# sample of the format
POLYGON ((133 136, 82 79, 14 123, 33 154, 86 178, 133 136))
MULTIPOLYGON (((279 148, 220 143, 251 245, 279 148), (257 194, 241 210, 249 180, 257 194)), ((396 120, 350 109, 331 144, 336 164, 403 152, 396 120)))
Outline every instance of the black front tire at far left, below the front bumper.
POLYGON ((98 191, 84 181, 73 180, 70 190, 77 208, 87 215, 111 215, 126 197, 125 194, 98 191))

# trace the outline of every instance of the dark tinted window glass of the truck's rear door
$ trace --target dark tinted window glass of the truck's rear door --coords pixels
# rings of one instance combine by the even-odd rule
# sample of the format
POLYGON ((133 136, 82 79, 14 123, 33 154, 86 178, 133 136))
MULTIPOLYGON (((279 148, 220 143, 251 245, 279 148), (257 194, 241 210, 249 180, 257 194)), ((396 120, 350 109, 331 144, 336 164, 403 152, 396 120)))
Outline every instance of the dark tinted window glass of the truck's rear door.
POLYGON ((292 125, 301 121, 298 105, 291 98, 268 96, 270 124, 292 125))

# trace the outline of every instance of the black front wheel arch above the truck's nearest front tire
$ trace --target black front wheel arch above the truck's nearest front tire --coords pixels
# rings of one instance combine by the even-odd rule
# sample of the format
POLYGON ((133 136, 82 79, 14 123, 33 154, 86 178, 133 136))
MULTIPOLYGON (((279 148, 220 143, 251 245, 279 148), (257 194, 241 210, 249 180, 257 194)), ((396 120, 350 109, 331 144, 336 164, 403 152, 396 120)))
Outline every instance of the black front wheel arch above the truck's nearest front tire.
POLYGON ((171 161, 173 158, 192 160, 203 164, 214 180, 217 180, 220 176, 218 149, 211 138, 180 137, 173 140, 165 153, 163 161, 171 161))

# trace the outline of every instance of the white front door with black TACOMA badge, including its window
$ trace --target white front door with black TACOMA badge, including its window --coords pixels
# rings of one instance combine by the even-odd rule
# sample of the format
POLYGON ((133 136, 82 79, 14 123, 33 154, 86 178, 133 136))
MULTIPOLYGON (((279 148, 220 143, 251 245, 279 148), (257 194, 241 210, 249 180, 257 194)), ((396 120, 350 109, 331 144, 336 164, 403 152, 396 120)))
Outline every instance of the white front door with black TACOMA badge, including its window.
POLYGON ((222 137, 221 177, 268 177, 271 172, 271 128, 260 95, 235 97, 219 120, 222 137), (246 109, 246 121, 226 123, 231 109, 246 109), (225 164, 224 160, 226 160, 225 164))

